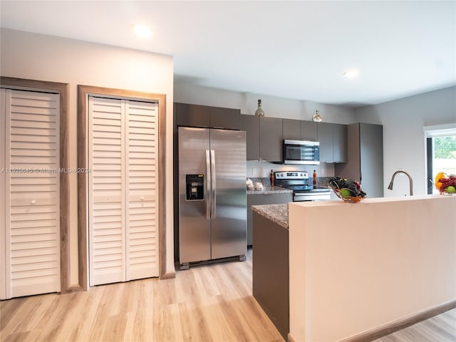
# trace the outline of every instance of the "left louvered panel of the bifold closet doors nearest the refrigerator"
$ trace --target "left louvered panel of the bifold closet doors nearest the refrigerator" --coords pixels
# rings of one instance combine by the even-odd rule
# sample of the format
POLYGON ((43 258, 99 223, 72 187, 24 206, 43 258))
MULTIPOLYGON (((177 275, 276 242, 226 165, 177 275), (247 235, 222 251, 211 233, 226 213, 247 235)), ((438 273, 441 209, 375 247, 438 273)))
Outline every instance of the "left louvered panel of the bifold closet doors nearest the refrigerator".
POLYGON ((124 104, 89 97, 90 286, 124 281, 124 104))

